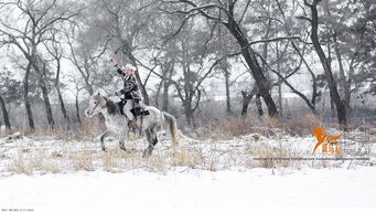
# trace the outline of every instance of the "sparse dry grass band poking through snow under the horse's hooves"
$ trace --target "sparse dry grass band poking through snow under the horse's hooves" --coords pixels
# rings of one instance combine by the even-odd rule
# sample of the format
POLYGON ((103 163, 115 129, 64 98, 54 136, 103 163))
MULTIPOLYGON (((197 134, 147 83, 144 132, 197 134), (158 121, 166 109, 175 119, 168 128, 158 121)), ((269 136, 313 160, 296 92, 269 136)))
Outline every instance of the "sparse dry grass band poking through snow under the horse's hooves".
MULTIPOLYGON (((132 153, 126 153, 118 147, 109 147, 104 152, 96 147, 83 145, 78 149, 74 142, 66 144, 58 152, 25 151, 22 148, 17 150, 17 157, 10 159, 8 171, 12 173, 57 173, 66 171, 94 171, 104 170, 108 172, 121 172, 125 170, 144 169, 153 172, 166 173, 169 170, 180 169, 200 169, 217 171, 232 169, 233 167, 244 168, 279 168, 288 167, 300 169, 307 165, 312 168, 326 168, 337 166, 336 161, 299 161, 288 158, 302 157, 301 152, 281 146, 268 144, 258 144, 258 141, 240 149, 228 148, 221 150, 218 142, 210 142, 204 149, 200 147, 190 148, 190 146, 179 147, 176 149, 155 149, 152 157, 142 158, 142 149, 132 153), (260 158, 260 160, 255 160, 260 158), (282 159, 279 159, 282 158, 282 159)), ((337 155, 336 157, 342 157, 337 155)))

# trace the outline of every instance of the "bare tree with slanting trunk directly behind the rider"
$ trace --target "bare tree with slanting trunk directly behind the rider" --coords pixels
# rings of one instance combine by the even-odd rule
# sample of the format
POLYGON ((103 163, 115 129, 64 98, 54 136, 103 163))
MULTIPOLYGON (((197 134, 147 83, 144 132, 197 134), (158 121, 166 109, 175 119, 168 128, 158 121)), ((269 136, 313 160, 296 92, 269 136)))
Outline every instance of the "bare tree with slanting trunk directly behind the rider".
MULTIPOLYGON (((136 51, 148 45, 148 40, 143 38, 143 34, 151 33, 147 26, 153 23, 153 15, 157 11, 155 2, 152 0, 94 0, 90 3, 94 11, 90 25, 111 39, 111 46, 119 55, 120 63, 131 63, 138 66, 136 51), (101 17, 107 19, 101 19, 101 17)), ((138 71, 135 75, 141 86, 143 102, 148 105, 149 95, 146 84, 141 82, 138 71)))

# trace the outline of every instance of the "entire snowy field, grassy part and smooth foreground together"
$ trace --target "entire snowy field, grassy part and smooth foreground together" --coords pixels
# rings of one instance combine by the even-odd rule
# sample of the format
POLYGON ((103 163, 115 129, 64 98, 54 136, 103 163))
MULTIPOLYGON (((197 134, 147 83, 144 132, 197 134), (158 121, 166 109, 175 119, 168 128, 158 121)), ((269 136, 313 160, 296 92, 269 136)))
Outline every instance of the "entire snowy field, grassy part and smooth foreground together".
POLYGON ((109 151, 104 152, 96 139, 2 138, 0 209, 376 208, 376 146, 365 145, 362 131, 346 135, 341 140, 346 148, 336 156, 312 155, 313 136, 195 140, 181 135, 178 149, 163 132, 159 139, 153 156, 144 159, 144 139, 129 141, 126 147, 133 152, 125 153, 112 139, 106 140, 109 151), (271 157, 337 160, 258 160, 271 157), (341 159, 361 157, 368 159, 341 159))

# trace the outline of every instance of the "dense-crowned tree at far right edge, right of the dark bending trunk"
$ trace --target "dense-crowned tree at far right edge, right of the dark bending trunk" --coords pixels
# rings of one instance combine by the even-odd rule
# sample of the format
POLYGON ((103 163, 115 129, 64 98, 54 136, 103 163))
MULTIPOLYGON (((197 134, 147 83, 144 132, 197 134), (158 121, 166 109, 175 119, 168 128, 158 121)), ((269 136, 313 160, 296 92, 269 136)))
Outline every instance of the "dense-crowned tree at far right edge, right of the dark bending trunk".
POLYGON ((327 52, 327 56, 331 55, 332 59, 330 61, 337 67, 334 78, 339 83, 339 94, 344 102, 346 119, 350 121, 351 96, 369 82, 373 75, 372 68, 366 64, 372 57, 373 42, 369 41, 374 39, 372 17, 375 12, 372 6, 375 3, 368 0, 345 2, 323 1, 324 15, 321 20, 325 24, 322 38, 326 40, 326 46, 332 51, 327 52))

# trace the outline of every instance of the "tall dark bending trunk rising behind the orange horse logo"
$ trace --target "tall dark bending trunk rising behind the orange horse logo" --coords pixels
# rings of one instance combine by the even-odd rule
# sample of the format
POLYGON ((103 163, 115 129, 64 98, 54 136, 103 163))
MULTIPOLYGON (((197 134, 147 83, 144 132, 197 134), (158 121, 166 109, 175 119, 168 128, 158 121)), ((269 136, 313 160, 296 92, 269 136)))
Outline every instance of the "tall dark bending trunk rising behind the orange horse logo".
POLYGON ((318 0, 314 0, 312 6, 309 4, 308 2, 304 2, 304 3, 311 8, 311 13, 312 13, 311 14, 312 15, 311 40, 312 40, 314 50, 319 55, 320 62, 324 68, 327 86, 329 86, 330 93, 332 95, 333 102, 334 102, 335 107, 336 107, 339 123, 340 123, 340 125, 343 125, 346 128, 346 126, 347 126, 346 107, 345 107, 343 100, 341 99, 341 96, 339 94, 339 91, 336 87, 336 82, 334 80, 330 63, 329 63, 327 57, 325 56, 325 53, 322 50, 320 41, 319 41, 319 32, 318 32, 319 31, 319 14, 318 14, 318 9, 316 9, 318 0))

